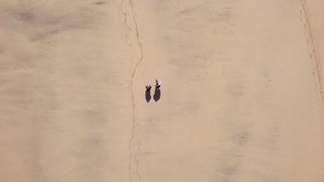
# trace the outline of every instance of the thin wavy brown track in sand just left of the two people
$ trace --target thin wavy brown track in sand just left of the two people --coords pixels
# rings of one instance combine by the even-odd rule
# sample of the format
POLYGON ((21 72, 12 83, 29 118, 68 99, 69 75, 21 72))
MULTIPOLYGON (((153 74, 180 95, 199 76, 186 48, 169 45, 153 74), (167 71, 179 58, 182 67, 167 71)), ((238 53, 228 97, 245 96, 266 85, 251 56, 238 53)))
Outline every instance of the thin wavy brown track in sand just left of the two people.
POLYGON ((138 172, 138 159, 137 159, 137 152, 139 150, 139 141, 138 141, 138 133, 139 133, 139 128, 138 128, 138 120, 136 119, 136 103, 134 101, 134 80, 136 79, 136 73, 138 72, 138 65, 143 61, 143 45, 141 41, 139 40, 139 33, 138 33, 138 25, 136 21, 136 16, 134 12, 134 1, 129 0, 127 4, 124 3, 124 0, 120 3, 120 8, 123 11, 123 14, 125 16, 124 22, 126 28, 128 29, 128 32, 125 36, 126 41, 129 46, 133 48, 133 44, 129 43, 129 33, 132 33, 133 30, 135 30, 136 34, 136 44, 138 45, 140 49, 140 57, 138 61, 136 62, 136 65, 134 69, 131 71, 131 76, 132 80, 130 82, 130 94, 131 94, 131 99, 132 99, 132 108, 133 108, 133 128, 132 128, 132 136, 129 140, 129 170, 130 170, 130 181, 141 181, 141 175, 138 172), (127 10, 125 10, 123 7, 127 6, 127 10), (131 17, 129 21, 132 22, 134 28, 129 27, 127 23, 127 17, 131 17))

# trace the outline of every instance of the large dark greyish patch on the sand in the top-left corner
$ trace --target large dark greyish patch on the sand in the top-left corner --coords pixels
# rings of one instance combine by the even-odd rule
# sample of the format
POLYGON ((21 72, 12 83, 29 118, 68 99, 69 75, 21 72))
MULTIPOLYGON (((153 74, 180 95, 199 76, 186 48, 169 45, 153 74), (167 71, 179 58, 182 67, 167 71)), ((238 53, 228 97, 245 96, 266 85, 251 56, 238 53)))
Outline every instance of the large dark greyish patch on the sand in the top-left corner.
MULTIPOLYGON (((104 3, 105 1, 96 2, 98 5, 104 3)), ((74 6, 69 11, 60 11, 60 6, 64 4, 58 4, 53 10, 37 6, 36 3, 30 3, 28 6, 17 3, 15 6, 9 6, 7 10, 8 15, 18 21, 12 24, 12 28, 28 34, 33 42, 43 41, 66 30, 93 28, 96 19, 101 15, 93 6, 74 6)))

